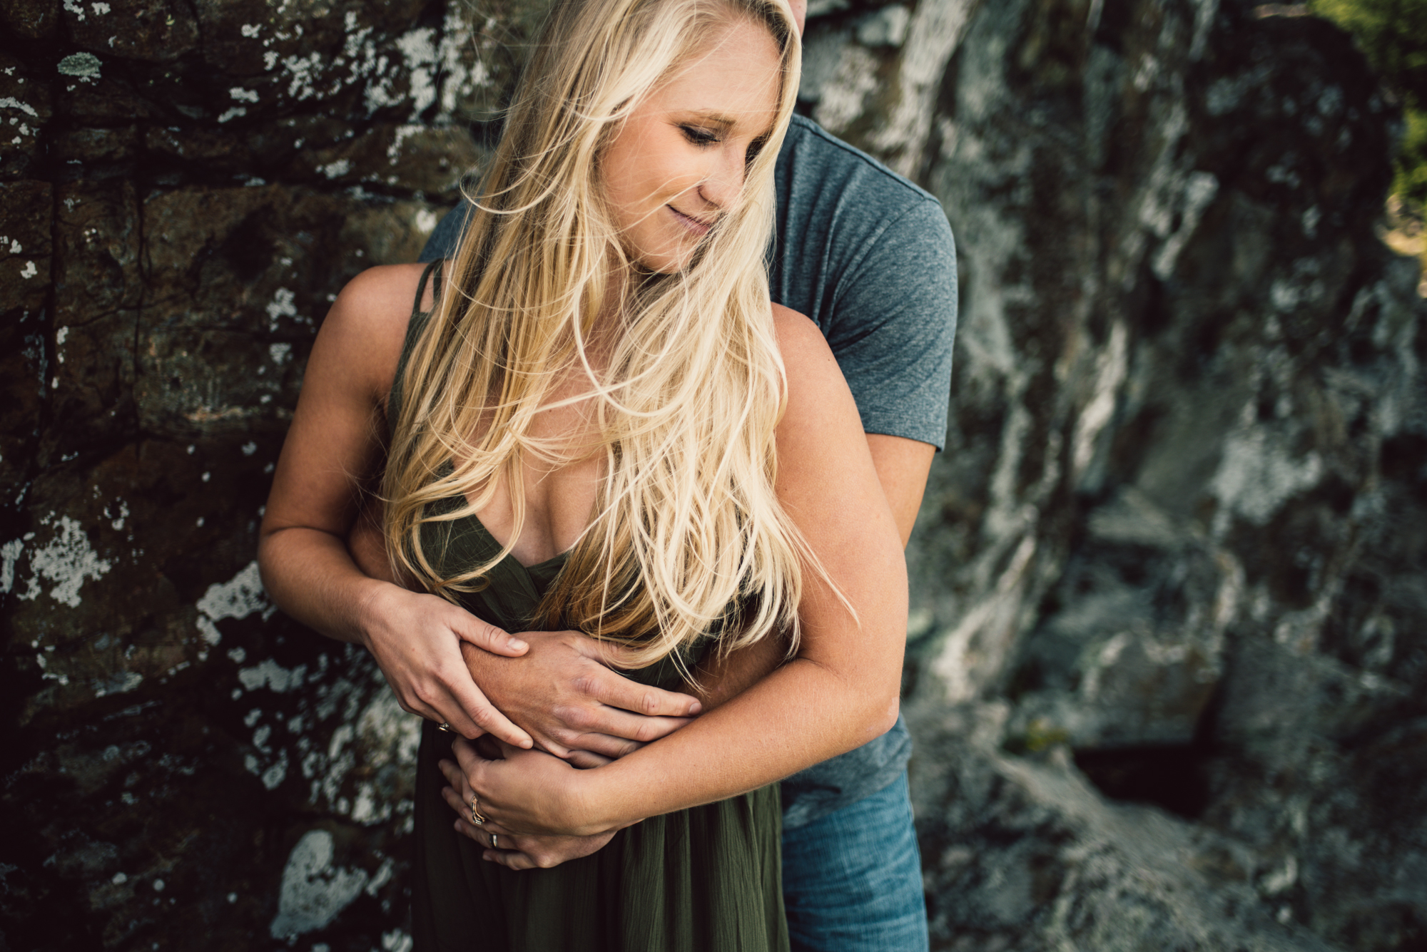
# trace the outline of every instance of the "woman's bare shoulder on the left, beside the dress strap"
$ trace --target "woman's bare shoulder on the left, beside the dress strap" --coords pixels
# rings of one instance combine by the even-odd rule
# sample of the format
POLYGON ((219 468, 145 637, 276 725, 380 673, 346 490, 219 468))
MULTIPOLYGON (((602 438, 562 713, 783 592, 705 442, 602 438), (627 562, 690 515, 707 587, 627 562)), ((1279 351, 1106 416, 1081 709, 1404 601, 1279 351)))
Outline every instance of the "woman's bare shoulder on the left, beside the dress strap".
MULTIPOLYGON (((351 375, 377 395, 391 389, 425 265, 380 265, 347 282, 317 333, 321 366, 351 375)), ((430 308, 431 289, 422 305, 430 308)))

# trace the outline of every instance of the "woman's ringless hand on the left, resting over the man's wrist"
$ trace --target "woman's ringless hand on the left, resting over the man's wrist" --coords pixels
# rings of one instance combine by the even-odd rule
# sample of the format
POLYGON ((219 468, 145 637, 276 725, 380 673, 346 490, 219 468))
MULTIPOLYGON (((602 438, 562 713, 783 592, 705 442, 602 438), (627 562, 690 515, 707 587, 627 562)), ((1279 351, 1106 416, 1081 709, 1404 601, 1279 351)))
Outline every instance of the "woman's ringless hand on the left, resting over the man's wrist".
POLYGON ((515 747, 532 745, 529 734, 485 698, 461 657, 462 644, 519 657, 529 650, 525 641, 444 599, 391 584, 377 587, 360 616, 362 643, 402 710, 450 724, 462 737, 489 733, 515 747))

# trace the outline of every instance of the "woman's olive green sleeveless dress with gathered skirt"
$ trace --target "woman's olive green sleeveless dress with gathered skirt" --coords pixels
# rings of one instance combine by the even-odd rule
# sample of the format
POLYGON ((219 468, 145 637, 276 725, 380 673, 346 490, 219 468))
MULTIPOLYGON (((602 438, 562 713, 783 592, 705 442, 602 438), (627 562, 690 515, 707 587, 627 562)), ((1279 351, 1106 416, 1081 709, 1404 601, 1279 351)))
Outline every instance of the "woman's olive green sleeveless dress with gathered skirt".
MULTIPOLYGON (((428 268, 421 278, 425 288, 428 268)), ((440 269, 435 279, 441 288, 440 269)), ((421 292, 417 294, 420 306, 421 292)), ((412 311, 397 366, 388 418, 395 419, 407 355, 427 319, 412 311)), ((442 505, 450 512, 464 500, 442 505)), ((441 523, 422 537, 428 557, 442 546, 444 566, 485 562, 499 552, 474 517, 441 523)), ((529 630, 539 599, 565 556, 522 566, 499 562, 489 584, 462 607, 507 631, 529 630)), ((696 661, 686 656, 686 661, 696 661)), ((626 671, 644 684, 678 687, 665 660, 626 671)), ((782 952, 788 949, 778 787, 715 804, 651 817, 621 829, 598 852, 552 869, 511 871, 481 858, 482 847, 458 834, 441 798, 437 767, 451 757, 451 735, 424 721, 417 758, 415 857, 411 926, 417 952, 782 952)))

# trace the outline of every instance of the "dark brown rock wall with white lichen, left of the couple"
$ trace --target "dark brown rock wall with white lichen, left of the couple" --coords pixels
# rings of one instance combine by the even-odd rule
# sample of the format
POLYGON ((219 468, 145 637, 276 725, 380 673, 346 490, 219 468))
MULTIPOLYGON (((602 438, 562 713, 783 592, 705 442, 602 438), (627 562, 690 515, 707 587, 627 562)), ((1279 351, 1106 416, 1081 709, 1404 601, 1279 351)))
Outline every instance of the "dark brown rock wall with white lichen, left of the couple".
POLYGON ((415 723, 255 530, 327 304, 455 202, 528 13, 0 16, 0 948, 405 948, 415 723))

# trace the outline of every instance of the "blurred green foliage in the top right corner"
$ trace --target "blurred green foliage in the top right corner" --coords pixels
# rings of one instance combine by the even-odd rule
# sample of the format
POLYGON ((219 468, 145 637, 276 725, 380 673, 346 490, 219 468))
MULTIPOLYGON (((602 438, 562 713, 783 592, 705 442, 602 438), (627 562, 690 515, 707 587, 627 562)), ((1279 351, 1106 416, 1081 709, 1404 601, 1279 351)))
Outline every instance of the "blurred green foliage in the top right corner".
POLYGON ((1403 100, 1407 134, 1393 194, 1427 205, 1427 0, 1309 0, 1309 9, 1353 34, 1403 100))

